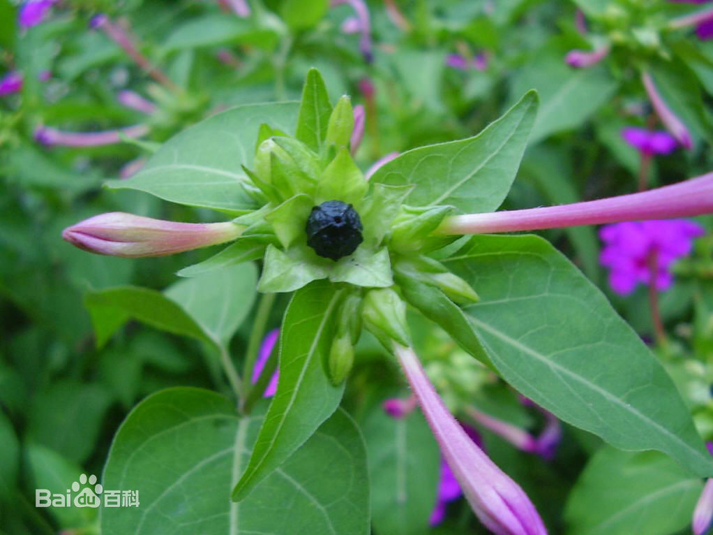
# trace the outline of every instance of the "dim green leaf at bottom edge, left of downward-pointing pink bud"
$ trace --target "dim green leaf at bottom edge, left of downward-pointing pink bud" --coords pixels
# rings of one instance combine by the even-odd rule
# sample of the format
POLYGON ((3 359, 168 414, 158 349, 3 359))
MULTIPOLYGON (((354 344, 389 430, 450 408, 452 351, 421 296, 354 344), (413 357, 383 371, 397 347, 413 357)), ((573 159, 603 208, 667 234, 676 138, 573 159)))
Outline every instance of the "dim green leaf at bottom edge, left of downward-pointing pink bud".
POLYGON ((362 429, 369 452, 374 531, 426 532, 436 504, 441 462, 426 419, 418 411, 392 418, 379 406, 362 429))

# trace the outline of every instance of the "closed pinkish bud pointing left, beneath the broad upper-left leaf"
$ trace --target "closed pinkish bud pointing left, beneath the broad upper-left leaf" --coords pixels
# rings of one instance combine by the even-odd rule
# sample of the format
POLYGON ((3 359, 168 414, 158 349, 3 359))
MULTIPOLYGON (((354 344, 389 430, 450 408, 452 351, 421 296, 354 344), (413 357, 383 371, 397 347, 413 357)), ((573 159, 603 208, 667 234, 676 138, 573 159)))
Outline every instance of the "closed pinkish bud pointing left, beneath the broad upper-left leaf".
POLYGON ((138 258, 173 255, 235 240, 235 223, 174 223, 123 212, 95 215, 62 231, 62 238, 100 255, 138 258))

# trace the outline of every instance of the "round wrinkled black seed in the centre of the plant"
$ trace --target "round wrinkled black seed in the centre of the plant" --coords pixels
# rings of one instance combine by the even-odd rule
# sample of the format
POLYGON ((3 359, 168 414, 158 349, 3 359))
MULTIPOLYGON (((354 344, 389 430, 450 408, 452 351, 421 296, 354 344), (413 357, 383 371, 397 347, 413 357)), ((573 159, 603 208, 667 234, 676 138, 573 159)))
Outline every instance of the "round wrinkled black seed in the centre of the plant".
POLYGON ((361 237, 361 220, 354 206, 327 200, 312 208, 307 219, 307 245, 324 258, 339 260, 354 253, 361 237))

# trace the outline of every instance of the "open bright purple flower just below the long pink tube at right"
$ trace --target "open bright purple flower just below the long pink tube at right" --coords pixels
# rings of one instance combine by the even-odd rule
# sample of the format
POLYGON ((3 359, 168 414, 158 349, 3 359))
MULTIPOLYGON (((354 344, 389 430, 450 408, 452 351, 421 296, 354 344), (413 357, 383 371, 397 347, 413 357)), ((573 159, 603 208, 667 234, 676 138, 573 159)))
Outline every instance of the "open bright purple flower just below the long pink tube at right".
POLYGON ((600 238, 605 243, 600 263, 609 267, 609 284, 621 295, 630 294, 639 282, 666 290, 673 282, 675 260, 688 255, 693 238, 705 230, 689 220, 627 221, 605 225, 600 238), (655 265, 652 265, 655 263, 655 265), (655 269, 655 280, 651 280, 655 269))

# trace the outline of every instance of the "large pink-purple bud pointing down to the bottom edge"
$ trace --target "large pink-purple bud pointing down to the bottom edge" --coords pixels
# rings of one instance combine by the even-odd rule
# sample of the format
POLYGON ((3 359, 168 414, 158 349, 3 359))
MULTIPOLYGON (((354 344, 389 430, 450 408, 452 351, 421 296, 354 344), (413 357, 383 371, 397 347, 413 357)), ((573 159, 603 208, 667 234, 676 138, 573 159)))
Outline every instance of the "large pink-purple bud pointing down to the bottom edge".
POLYGON ((453 418, 411 348, 394 344, 441 454, 478 519, 496 535, 542 535, 547 530, 527 494, 481 450, 453 418))

